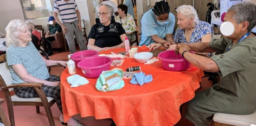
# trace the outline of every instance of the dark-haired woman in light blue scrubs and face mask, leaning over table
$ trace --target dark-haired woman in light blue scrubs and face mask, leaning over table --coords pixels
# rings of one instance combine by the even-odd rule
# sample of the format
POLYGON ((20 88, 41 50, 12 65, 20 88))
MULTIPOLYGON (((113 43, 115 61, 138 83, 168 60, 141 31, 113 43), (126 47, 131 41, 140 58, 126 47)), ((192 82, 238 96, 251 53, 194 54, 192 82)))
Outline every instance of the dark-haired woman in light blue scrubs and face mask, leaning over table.
POLYGON ((140 45, 150 45, 151 50, 162 47, 165 42, 175 44, 172 37, 175 17, 169 11, 168 2, 162 0, 142 16, 140 45))

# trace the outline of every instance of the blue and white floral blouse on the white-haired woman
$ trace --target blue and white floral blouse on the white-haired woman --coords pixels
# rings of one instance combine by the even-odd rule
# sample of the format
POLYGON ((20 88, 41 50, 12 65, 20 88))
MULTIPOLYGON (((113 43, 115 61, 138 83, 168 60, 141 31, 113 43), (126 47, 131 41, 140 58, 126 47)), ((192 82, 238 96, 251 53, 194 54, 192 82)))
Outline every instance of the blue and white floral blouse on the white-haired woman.
POLYGON ((205 22, 205 21, 197 21, 194 31, 192 32, 192 35, 190 36, 190 41, 187 42, 186 35, 184 33, 183 29, 180 29, 180 27, 175 31, 173 40, 177 43, 195 43, 195 42, 201 42, 201 39, 204 35, 213 33, 212 26, 205 22))

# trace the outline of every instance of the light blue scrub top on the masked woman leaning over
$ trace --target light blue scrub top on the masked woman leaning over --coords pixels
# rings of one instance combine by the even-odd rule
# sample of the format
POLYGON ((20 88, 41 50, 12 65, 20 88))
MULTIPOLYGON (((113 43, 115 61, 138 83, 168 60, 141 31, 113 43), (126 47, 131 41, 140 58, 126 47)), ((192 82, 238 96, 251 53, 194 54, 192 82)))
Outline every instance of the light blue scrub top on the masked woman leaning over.
POLYGON ((149 45, 151 43, 155 43, 150 36, 158 35, 162 39, 165 39, 166 34, 172 34, 174 25, 175 25, 175 17, 172 13, 169 12, 170 20, 165 21, 165 25, 158 24, 156 20, 156 15, 150 9, 146 12, 141 19, 141 40, 139 45, 149 45))

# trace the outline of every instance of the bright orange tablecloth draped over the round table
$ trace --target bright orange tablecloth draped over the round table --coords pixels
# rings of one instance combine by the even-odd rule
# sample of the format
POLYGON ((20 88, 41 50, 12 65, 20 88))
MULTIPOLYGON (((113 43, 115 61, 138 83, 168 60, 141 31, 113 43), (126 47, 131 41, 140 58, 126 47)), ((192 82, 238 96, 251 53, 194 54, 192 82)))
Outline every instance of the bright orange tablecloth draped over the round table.
MULTIPOLYGON (((110 54, 125 51, 124 48, 100 52, 110 54)), ((149 51, 146 46, 138 51, 149 51)), ((144 65, 135 59, 125 59, 122 68, 140 66, 146 75, 151 74, 153 81, 130 84, 124 79, 125 86, 120 90, 101 92, 95 88, 96 79, 87 78, 90 83, 70 88, 67 83, 68 69, 61 74, 61 100, 65 122, 75 114, 82 117, 94 116, 96 119, 112 118, 117 126, 164 126, 174 125, 180 120, 180 105, 195 96, 195 90, 203 71, 191 66, 182 72, 164 70, 161 62, 144 65)), ((111 69, 114 67, 111 67, 111 69)), ((83 75, 77 69, 78 75, 83 75)))

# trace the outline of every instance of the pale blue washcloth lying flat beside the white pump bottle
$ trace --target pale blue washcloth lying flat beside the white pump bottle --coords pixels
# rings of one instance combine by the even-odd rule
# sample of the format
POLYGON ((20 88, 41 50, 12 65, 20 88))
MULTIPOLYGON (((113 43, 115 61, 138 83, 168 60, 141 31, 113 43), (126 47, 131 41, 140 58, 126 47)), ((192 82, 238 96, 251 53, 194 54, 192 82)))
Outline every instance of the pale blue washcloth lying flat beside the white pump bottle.
POLYGON ((77 87, 89 83, 89 81, 86 78, 80 75, 72 75, 67 77, 67 82, 71 84, 70 87, 77 87))

